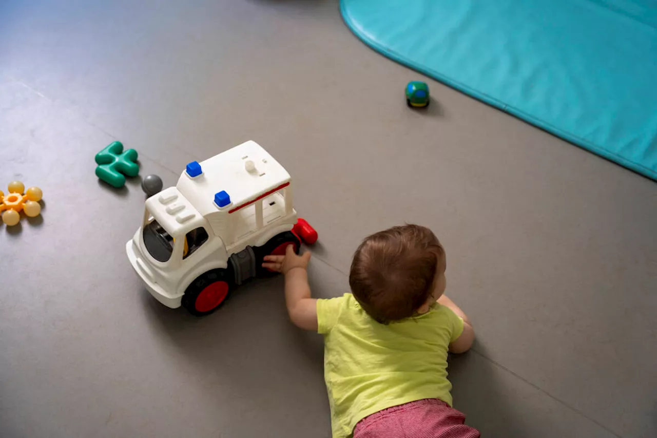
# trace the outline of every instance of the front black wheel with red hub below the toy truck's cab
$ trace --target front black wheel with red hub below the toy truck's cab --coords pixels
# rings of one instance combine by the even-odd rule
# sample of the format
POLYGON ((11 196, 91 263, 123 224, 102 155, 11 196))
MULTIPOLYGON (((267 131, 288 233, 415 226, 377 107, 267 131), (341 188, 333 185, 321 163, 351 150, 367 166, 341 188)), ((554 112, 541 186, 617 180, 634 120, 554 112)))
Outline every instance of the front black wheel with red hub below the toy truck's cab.
POLYGON ((230 269, 213 269, 192 281, 181 304, 194 316, 209 315, 226 302, 233 289, 233 272, 230 269))

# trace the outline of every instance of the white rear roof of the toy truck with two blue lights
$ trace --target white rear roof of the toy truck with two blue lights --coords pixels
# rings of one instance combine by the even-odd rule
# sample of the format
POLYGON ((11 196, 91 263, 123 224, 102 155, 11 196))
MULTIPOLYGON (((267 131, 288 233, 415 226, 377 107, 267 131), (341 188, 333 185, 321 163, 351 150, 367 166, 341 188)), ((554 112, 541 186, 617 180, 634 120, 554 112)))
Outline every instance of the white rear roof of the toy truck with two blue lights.
POLYGON ((177 189, 202 215, 219 207, 238 210, 283 189, 290 174, 255 141, 246 141, 202 162, 191 162, 177 189))

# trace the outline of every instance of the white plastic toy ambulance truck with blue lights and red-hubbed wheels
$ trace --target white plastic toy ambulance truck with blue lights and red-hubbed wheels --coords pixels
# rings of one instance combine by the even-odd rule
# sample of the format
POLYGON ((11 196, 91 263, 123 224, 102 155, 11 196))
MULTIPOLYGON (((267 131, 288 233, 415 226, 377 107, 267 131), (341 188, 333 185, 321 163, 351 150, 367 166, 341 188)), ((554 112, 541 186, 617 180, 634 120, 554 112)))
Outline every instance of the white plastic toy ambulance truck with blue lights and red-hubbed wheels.
POLYGON ((255 141, 187 164, 175 187, 148 198, 125 245, 148 291, 171 308, 214 312, 244 281, 271 274, 265 255, 299 251, 317 233, 292 207, 290 175, 255 141))

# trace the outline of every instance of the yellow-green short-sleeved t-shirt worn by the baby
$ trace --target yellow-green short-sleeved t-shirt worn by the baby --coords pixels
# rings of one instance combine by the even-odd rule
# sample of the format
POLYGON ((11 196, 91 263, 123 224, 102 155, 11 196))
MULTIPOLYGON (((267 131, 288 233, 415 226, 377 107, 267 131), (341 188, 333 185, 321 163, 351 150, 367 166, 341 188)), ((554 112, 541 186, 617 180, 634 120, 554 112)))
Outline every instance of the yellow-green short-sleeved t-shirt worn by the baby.
POLYGON ((317 300, 324 335, 324 378, 333 438, 349 437, 363 418, 416 400, 452 404, 447 349, 463 320, 436 303, 425 314, 379 324, 350 293, 317 300))

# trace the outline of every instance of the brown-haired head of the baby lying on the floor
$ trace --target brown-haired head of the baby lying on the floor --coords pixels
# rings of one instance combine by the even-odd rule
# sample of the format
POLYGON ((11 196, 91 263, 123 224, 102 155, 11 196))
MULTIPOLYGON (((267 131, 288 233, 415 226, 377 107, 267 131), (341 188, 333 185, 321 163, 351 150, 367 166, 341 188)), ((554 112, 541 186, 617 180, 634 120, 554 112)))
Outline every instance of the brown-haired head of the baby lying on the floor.
POLYGON ((445 250, 419 225, 365 238, 351 262, 349 284, 365 312, 382 324, 426 313, 445 291, 445 250))

